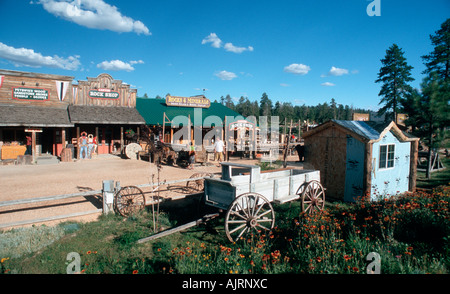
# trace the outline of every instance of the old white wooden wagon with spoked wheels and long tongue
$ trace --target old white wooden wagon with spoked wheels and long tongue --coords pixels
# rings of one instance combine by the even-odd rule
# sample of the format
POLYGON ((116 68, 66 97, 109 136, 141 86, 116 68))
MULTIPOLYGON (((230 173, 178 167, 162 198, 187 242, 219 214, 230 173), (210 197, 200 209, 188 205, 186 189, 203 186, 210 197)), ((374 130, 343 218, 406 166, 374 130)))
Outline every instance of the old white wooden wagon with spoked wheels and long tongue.
MULTIPOLYGON (((274 227, 275 212, 271 202, 300 200, 302 210, 306 213, 320 212, 325 205, 325 191, 320 184, 318 170, 283 168, 261 171, 257 165, 225 162, 222 163, 220 179, 195 178, 192 183, 204 188, 204 203, 217 208, 219 212, 140 239, 138 243, 166 236, 222 215, 225 215, 227 238, 236 242, 248 233, 269 232, 274 227), (203 183, 199 183, 201 180, 203 183)), ((127 206, 128 204, 123 208, 127 206)))

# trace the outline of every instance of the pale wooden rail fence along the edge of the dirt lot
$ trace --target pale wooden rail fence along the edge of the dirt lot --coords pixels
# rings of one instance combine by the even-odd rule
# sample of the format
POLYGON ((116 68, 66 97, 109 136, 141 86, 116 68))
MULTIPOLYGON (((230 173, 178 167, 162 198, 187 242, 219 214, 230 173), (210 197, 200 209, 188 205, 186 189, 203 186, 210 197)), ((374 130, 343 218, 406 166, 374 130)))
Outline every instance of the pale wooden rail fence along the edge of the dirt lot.
MULTIPOLYGON (((150 192, 150 193, 153 193, 158 187, 161 187, 161 186, 173 185, 173 184, 190 182, 190 181, 198 181, 198 180, 203 180, 207 177, 209 177, 209 176, 180 179, 180 180, 173 180, 173 181, 164 181, 164 182, 159 182, 159 183, 141 184, 141 185, 135 185, 135 187, 154 188, 154 190, 152 190, 150 192)), ((9 222, 9 223, 0 223, 0 229, 35 224, 35 223, 42 223, 42 222, 48 222, 48 221, 55 221, 55 220, 61 220, 61 219, 68 219, 68 218, 85 216, 85 215, 95 214, 95 213, 104 213, 104 214, 114 213, 114 209, 113 209, 114 197, 115 197, 115 194, 119 190, 120 190, 120 182, 119 181, 114 182, 113 180, 105 180, 102 182, 102 190, 85 191, 85 192, 79 192, 79 193, 73 193, 73 194, 62 194, 62 195, 54 195, 54 196, 44 196, 44 197, 37 197, 37 198, 27 198, 27 199, 3 201, 3 202, 0 202, 0 208, 6 207, 6 206, 18 206, 18 205, 23 205, 23 204, 43 203, 43 202, 50 202, 50 201, 55 201, 55 200, 71 199, 71 198, 76 198, 76 197, 97 197, 97 198, 101 199, 103 205, 102 205, 102 208, 94 209, 94 210, 88 210, 88 211, 82 211, 82 212, 76 212, 76 213, 70 213, 70 214, 64 214, 64 215, 57 215, 57 216, 50 216, 50 217, 45 217, 45 218, 22 220, 22 221, 9 222)), ((197 193, 193 193, 193 194, 197 194, 197 193)), ((182 196, 171 197, 170 200, 177 200, 180 198, 185 198, 189 195, 191 195, 191 194, 185 194, 182 196)), ((159 199, 158 201, 162 201, 162 200, 159 199)), ((67 205, 71 205, 71 203, 67 203, 67 205)), ((39 208, 41 208, 41 207, 36 206, 36 207, 26 208, 26 209, 29 210, 29 209, 39 209, 39 208)), ((20 210, 21 209, 17 209, 15 211, 20 211, 20 210)), ((0 213, 5 214, 5 213, 8 213, 8 211, 2 211, 0 213)))

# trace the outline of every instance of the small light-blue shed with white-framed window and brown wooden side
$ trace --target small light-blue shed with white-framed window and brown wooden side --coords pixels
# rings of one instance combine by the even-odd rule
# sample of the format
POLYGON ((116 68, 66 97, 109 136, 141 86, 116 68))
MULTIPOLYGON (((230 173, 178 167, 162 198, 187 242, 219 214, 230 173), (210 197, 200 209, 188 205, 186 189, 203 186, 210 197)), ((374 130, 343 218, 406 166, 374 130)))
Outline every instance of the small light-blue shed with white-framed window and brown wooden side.
POLYGON ((331 120, 303 138, 305 168, 320 170, 327 197, 377 200, 415 191, 419 138, 394 122, 331 120))

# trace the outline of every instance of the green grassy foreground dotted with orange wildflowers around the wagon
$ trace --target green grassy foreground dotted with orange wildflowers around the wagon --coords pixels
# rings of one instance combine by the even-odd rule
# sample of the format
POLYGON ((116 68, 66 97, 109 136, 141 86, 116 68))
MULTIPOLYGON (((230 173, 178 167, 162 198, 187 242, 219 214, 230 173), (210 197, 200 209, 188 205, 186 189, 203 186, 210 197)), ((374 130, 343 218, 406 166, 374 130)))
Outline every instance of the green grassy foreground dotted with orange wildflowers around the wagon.
MULTIPOLYGON (((320 215, 303 215, 299 202, 274 205, 276 228, 236 243, 226 239, 219 218, 137 244, 153 233, 150 212, 128 219, 107 215, 1 233, 0 272, 66 273, 67 255, 76 252, 86 274, 361 274, 367 255, 376 252, 381 273, 449 273, 449 203, 446 185, 378 202, 327 203, 320 215)), ((192 202, 164 211, 158 225, 173 227, 203 212, 192 202)))

